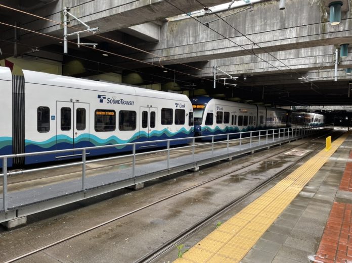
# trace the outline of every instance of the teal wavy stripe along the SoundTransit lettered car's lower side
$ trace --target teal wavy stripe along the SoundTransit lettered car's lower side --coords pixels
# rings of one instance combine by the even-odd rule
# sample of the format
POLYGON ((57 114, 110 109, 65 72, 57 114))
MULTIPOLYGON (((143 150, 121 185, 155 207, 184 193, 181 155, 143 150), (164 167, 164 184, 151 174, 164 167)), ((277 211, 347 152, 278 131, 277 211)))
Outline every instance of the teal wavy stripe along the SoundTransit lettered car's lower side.
MULTIPOLYGON (((177 134, 191 134, 192 129, 187 130, 186 128, 182 128, 177 132, 170 132, 167 129, 163 129, 160 131, 152 131, 150 133, 151 136, 155 136, 155 137, 161 137, 161 136, 167 136, 167 137, 173 137, 177 134)), ((129 139, 123 140, 120 139, 119 137, 112 135, 107 139, 102 139, 99 138, 98 136, 94 135, 94 134, 90 134, 90 133, 84 133, 79 135, 75 141, 76 143, 81 142, 81 141, 87 141, 89 140, 93 145, 95 146, 101 146, 101 145, 107 145, 107 144, 123 144, 123 143, 129 143, 132 141, 135 141, 138 138, 141 137, 148 137, 148 134, 145 131, 142 132, 136 132, 132 137, 130 137, 129 139)), ((33 140, 25 140, 25 146, 28 145, 38 145, 42 148, 50 148, 52 146, 54 146, 56 143, 73 143, 73 138, 67 136, 67 135, 58 135, 58 136, 53 136, 50 139, 46 140, 46 141, 33 141, 33 140)), ((1 145, 1 144, 0 144, 1 145)))

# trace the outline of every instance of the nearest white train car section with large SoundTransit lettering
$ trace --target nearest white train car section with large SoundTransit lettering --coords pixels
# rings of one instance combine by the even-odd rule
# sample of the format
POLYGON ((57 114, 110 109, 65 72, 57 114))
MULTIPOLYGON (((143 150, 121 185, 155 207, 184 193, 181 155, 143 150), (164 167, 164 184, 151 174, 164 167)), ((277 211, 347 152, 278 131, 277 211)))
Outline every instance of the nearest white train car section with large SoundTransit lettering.
MULTIPOLYGON (((15 133, 23 132, 23 136, 13 138, 22 146, 14 153, 72 151, 26 156, 15 164, 79 157, 81 151, 74 149, 80 147, 145 142, 137 145, 138 150, 166 145, 148 141, 184 138, 170 144, 185 144, 194 136, 193 109, 186 95, 26 70, 23 73, 20 98, 24 107, 14 109, 18 123, 24 123, 14 123, 15 133)), ((5 121, 11 123, 10 119, 5 121)), ((131 149, 121 145, 88 150, 86 154, 131 149)))

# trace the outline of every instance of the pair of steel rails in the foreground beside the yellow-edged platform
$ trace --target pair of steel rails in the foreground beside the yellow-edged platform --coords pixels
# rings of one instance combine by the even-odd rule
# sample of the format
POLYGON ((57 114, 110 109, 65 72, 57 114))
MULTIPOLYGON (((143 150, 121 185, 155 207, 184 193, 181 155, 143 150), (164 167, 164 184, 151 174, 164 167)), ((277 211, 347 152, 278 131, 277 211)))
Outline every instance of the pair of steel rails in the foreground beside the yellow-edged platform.
MULTIPOLYGON (((334 131, 333 132, 333 136, 336 137, 338 135, 342 134, 342 132, 338 132, 338 131, 334 131)), ((326 134, 320 136, 320 137, 323 137, 323 136, 326 136, 326 134)), ((318 137, 319 138, 319 137, 318 137)), ((315 138, 315 139, 318 139, 318 138, 315 138)), ((313 140, 315 140, 313 139, 313 140)), ((311 140, 311 141, 313 141, 311 140)), ((278 156, 278 155, 282 155, 282 153, 284 152, 287 152, 289 151, 290 149, 293 149, 293 148, 297 148, 297 147, 300 147, 301 145, 305 144, 305 143, 308 143, 308 142, 304 142, 304 143, 301 143, 301 144, 298 144, 298 145, 294 145, 293 147, 289 148, 289 149, 284 149, 284 150, 281 150, 279 152, 276 152, 274 154, 271 154, 271 155, 265 155, 265 156, 260 156, 258 159, 255 160, 255 162, 252 162, 248 165, 245 165, 245 166, 242 166, 238 169, 235 169, 235 170, 232 170, 226 174, 223 174, 221 176, 218 176, 218 177, 215 177, 215 178, 212 178, 212 179, 209 179, 207 181, 204 181, 204 182, 201 182, 201 183, 198 183, 196 185, 193 185, 192 187, 189 187, 187 189, 183 189, 182 191, 179 191, 177 193, 174 193, 174 194, 171 194, 169 196, 166 196, 164 198, 161 198, 157 201, 154 201, 154 202, 151 202, 149 204, 146 204, 146 205, 143 205, 137 209, 134 209, 133 211, 130 211, 128 213, 125 213, 121 216, 118 216, 116 218, 113 218, 113 219, 110 219, 108 221, 105 221, 99 225, 96 225, 96 226, 93 226, 91 228, 88 228, 88 229, 85 229, 83 231, 80 231, 78 233, 75 233, 73 235, 70 235, 70 236, 67 236, 63 239, 60 239, 58 241, 55 241, 53 243, 50 243, 48 245, 45 245, 45 246, 42 246, 42 247, 39 247, 37 249, 34 249, 30 252, 27 252, 23 255, 20 255, 18 257, 15 257, 15 258, 12 258, 10 260, 7 260, 5 261, 4 263, 10 263, 10 262, 15 262, 17 260, 20 260, 20 259, 24 259, 24 258, 27 258, 33 254, 36 254, 38 252, 41 252, 41 251, 44 251, 48 248, 52 248, 52 247, 55 247, 56 245, 59 245, 61 243, 64 243, 65 241, 68 241, 68 240, 71 240, 71 239, 74 239, 75 237, 78 237, 78 236, 81 236, 81 235, 84 235, 85 233, 88 233, 90 231, 93 231, 95 229, 98 229, 98 228, 101 228, 103 226, 106 226, 108 225, 109 223, 112 223, 114 221, 117 221, 117 220, 120 220, 122 218, 125 218, 129 215, 132 215, 132 214, 135 214, 139 211, 142 211, 143 209, 146 209, 148 207, 151 207, 157 203, 160 203, 160 202, 163 202, 165 200, 168 200, 170 198, 174 198, 174 197, 177 197, 177 196, 180 196, 182 195, 183 193, 185 192, 188 192, 190 190, 193 190, 195 188, 198 188, 200 186, 203 186, 205 184, 208 184, 210 182, 214 182, 218 179, 221 179, 223 177, 226 177, 226 176, 230 176, 234 173, 238 173, 240 172, 241 170, 243 169, 248 169, 250 168, 252 165, 254 164, 257 164, 258 162, 261 162, 261 161, 265 161, 265 160, 268 160, 269 158, 271 157, 275 157, 275 156, 278 156)), ((293 167, 294 165, 296 165, 298 162, 301 162, 302 160, 306 159, 307 157, 311 156, 315 151, 317 151, 319 148, 321 148, 321 146, 317 147, 315 150, 313 150, 311 153, 309 154, 306 154, 305 156, 303 156, 302 158, 299 158, 297 161, 295 161, 293 164, 291 164, 289 167, 285 168, 285 170, 283 171, 280 171, 279 173, 273 175, 270 179, 266 180, 266 181, 263 181, 261 184, 259 184, 258 186, 256 186, 255 188, 251 189, 250 191, 248 191, 248 193, 244 194, 243 196, 240 196, 239 198, 236 198, 235 200, 232 200, 231 202, 229 202, 228 204, 224 205, 222 208, 218 209, 217 211, 215 211, 214 213, 212 213, 211 215, 207 216, 205 220, 202 220, 202 221, 199 221, 197 224, 195 224, 194 226, 190 227, 187 231, 184 231, 183 233, 181 233, 180 235, 178 236, 175 236, 174 238, 168 240, 164 245, 158 247, 156 250, 152 251, 151 253, 149 253, 148 255, 138 259, 137 261, 135 261, 135 263, 146 263, 146 262, 151 262, 152 260, 154 260, 155 258, 157 258, 158 256, 160 256, 162 253, 164 253, 165 251, 168 251, 171 247, 174 246, 174 244, 177 244, 177 243, 180 243, 182 242, 182 240, 188 236, 190 236, 192 233, 194 233, 195 231, 197 231, 198 229, 200 229, 201 227, 203 227, 204 225, 207 225, 209 224, 209 222, 211 222, 212 220, 214 220, 215 218, 219 217, 219 215, 221 214, 224 214, 226 211, 228 211, 228 209, 230 209, 231 207, 233 207, 234 205, 238 204, 239 202, 241 202, 242 200, 244 200, 245 198, 247 198, 248 196, 250 196, 251 194, 253 194, 254 192, 258 191, 259 189, 261 189, 262 187, 268 185, 270 182, 272 182, 276 177, 278 177, 280 174, 282 174, 284 171, 286 171, 287 169, 290 169, 291 167, 293 167)))

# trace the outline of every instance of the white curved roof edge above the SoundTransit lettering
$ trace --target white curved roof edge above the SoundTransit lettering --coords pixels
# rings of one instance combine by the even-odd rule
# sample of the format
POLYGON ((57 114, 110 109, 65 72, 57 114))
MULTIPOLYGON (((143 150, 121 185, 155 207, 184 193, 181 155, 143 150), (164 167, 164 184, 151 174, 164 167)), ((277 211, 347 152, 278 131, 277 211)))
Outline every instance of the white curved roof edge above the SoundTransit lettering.
POLYGON ((184 94, 138 88, 123 84, 100 82, 96 80, 80 79, 29 70, 23 70, 23 74, 26 83, 34 83, 38 85, 69 87, 93 91, 95 90, 99 92, 120 93, 163 99, 176 99, 182 101, 189 100, 188 97, 184 94))

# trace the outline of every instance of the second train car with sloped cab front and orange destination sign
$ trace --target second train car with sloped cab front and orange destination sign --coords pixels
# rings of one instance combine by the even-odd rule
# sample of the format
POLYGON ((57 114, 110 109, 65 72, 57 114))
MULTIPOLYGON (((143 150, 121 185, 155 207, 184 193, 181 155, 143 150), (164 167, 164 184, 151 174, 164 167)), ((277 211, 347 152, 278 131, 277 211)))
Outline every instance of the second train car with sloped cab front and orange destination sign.
POLYGON ((283 128, 289 125, 286 110, 202 96, 191 101, 196 136, 283 128))

